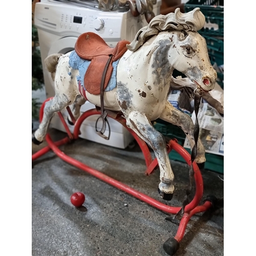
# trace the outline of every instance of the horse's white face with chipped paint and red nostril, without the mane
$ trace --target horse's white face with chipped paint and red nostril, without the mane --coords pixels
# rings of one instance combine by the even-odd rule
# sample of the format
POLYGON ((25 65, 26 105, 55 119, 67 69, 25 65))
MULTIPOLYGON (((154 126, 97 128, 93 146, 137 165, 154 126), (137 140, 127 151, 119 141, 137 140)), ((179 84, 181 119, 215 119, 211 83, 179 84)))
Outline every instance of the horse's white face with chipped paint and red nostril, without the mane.
POLYGON ((173 31, 170 65, 185 74, 197 87, 208 92, 215 87, 217 73, 212 68, 205 39, 196 31, 173 31))

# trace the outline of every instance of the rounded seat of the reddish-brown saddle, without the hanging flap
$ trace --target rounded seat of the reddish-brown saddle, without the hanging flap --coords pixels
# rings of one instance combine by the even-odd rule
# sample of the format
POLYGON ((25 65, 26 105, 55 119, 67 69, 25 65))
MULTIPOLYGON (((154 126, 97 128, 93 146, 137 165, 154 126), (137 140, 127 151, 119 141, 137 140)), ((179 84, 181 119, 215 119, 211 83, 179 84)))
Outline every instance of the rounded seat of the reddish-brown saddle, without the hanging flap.
POLYGON ((112 55, 115 49, 110 48, 99 35, 87 32, 77 38, 75 51, 79 57, 91 60, 99 55, 112 55))

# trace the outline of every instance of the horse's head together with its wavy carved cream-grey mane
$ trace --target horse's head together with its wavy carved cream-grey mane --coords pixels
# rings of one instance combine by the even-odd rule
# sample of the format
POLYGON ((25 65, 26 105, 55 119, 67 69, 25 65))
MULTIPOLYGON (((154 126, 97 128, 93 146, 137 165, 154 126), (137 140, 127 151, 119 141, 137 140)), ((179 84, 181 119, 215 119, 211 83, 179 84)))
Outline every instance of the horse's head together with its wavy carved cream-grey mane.
MULTIPOLYGON (((208 92, 214 89, 217 73, 212 68, 205 39, 196 31, 203 28, 205 17, 200 8, 181 13, 177 8, 175 13, 158 15, 148 26, 138 31, 135 39, 127 48, 138 50, 145 41, 154 35, 165 32, 164 40, 168 44, 170 67, 185 74, 197 87, 208 92), (167 40, 166 40, 167 39, 167 40)), ((162 39, 162 35, 159 39, 162 39)))

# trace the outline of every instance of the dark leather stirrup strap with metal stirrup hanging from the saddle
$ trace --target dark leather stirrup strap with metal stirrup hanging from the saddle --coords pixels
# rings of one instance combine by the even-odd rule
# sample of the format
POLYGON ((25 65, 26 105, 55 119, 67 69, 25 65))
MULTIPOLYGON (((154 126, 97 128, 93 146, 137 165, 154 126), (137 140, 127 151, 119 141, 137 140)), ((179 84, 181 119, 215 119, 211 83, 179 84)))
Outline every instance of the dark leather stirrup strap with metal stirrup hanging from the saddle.
POLYGON ((101 77, 101 82, 100 82, 100 117, 97 119, 96 124, 95 124, 95 129, 96 129, 96 133, 101 136, 103 139, 109 140, 110 138, 110 124, 108 119, 106 119, 106 116, 108 115, 108 113, 106 113, 106 111, 104 110, 104 83, 105 83, 105 77, 106 77, 106 71, 108 71, 108 67, 109 64, 112 60, 113 55, 109 55, 109 59, 106 62, 105 68, 103 70, 103 74, 101 77), (102 127, 101 130, 98 131, 97 129, 97 124, 99 119, 102 119, 102 127), (106 130, 106 124, 108 124, 109 127, 109 135, 105 136, 104 132, 106 130))

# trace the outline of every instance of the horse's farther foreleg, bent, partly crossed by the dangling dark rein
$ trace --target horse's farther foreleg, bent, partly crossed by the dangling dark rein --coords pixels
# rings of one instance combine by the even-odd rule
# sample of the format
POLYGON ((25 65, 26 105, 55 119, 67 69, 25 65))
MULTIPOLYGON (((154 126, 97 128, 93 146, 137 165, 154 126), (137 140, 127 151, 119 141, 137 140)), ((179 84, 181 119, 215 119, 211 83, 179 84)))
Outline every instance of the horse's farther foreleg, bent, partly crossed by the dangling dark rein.
MULTIPOLYGON (((190 147, 193 148, 195 145, 195 139, 194 139, 194 123, 190 116, 187 114, 177 110, 174 108, 172 104, 170 104, 168 101, 166 101, 165 109, 162 112, 160 119, 170 122, 172 124, 175 124, 183 130, 183 132, 186 134, 189 142, 190 147)), ((197 156, 195 159, 196 163, 204 163, 205 162, 205 148, 201 142, 201 139, 198 138, 197 143, 197 156)))

